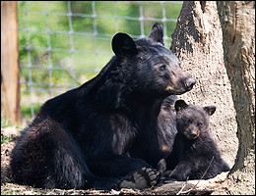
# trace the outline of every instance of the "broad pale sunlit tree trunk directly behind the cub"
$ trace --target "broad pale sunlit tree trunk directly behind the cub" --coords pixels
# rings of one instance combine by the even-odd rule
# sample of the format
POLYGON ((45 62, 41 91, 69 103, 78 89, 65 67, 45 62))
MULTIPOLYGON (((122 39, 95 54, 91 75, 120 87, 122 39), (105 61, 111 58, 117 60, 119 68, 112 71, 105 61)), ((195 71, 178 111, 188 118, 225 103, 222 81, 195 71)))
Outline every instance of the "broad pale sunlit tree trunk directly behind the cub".
POLYGON ((210 131, 224 160, 233 166, 238 149, 231 85, 224 68, 223 33, 215 1, 184 1, 170 50, 197 79, 179 98, 200 106, 215 105, 210 131))

